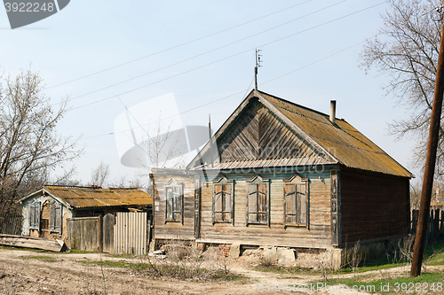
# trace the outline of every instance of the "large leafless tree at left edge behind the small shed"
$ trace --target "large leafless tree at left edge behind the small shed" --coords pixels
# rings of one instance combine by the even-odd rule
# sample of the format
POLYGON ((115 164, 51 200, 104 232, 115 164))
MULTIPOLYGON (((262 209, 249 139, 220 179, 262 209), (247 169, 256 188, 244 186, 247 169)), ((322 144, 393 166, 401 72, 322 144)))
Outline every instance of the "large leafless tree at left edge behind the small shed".
POLYGON ((0 214, 49 179, 56 167, 76 159, 76 141, 57 133, 66 103, 54 110, 43 80, 30 69, 0 86, 0 214))

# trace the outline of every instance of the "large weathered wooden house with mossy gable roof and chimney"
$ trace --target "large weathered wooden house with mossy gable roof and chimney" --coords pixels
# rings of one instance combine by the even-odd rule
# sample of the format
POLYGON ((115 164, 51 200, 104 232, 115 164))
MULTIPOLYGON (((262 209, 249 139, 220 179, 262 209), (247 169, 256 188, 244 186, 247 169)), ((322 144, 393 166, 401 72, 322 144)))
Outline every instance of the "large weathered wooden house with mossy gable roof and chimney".
POLYGON ((335 113, 252 90, 186 171, 153 171, 156 241, 340 250, 407 234, 413 175, 335 113))

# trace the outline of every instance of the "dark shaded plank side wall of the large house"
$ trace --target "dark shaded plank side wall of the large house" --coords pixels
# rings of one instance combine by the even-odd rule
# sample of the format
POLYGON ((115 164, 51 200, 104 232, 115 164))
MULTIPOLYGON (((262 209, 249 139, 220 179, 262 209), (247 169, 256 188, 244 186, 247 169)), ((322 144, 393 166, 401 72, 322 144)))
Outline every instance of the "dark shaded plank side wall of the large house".
POLYGON ((408 178, 341 169, 341 242, 408 233, 408 178))

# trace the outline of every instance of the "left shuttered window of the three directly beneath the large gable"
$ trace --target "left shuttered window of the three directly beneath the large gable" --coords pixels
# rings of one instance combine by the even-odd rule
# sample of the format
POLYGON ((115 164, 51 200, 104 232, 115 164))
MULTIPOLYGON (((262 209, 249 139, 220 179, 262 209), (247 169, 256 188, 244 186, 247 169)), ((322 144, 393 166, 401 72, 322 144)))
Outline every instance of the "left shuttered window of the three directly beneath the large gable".
POLYGON ((213 224, 233 222, 234 218, 234 181, 225 176, 213 181, 213 224))

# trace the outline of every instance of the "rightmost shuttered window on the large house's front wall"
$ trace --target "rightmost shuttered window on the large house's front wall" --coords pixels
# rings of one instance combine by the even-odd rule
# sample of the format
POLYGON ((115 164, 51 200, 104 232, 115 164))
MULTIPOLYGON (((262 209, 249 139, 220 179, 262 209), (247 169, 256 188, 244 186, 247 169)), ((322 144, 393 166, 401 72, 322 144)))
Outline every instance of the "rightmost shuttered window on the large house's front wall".
POLYGON ((284 227, 297 227, 309 229, 310 221, 310 193, 309 193, 309 181, 308 178, 303 178, 300 175, 294 174, 289 179, 283 182, 283 224, 284 227), (293 196, 293 197, 290 197, 293 196), (305 200, 303 198, 305 196, 305 200), (292 198, 293 200, 291 200, 292 198), (301 201, 301 199, 303 199, 301 201), (293 203, 291 209, 294 213, 289 213, 289 202, 293 203), (298 205, 302 206, 298 208, 298 205), (302 210, 305 208, 305 217, 302 210), (301 217, 302 215, 302 217, 301 217), (291 222, 288 219, 294 218, 295 221, 291 222))

